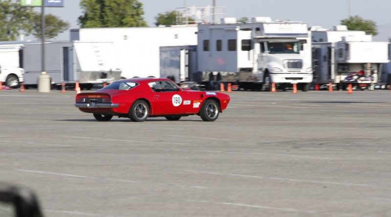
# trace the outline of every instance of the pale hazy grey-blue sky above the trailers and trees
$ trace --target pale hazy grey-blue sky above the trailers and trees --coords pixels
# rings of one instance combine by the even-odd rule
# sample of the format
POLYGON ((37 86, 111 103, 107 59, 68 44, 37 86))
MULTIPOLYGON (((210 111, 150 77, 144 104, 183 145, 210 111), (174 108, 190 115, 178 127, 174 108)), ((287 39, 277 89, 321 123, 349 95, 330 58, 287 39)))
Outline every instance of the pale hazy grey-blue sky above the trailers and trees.
MULTIPOLYGON (((71 28, 79 28, 77 18, 82 11, 80 0, 64 0, 64 8, 46 8, 45 13, 52 13, 67 20, 71 28)), ((154 17, 158 13, 174 10, 177 7, 212 6, 213 0, 139 0, 143 3, 144 19, 149 26, 154 26, 154 17)), ((226 6, 226 17, 271 17, 272 20, 302 20, 308 26, 331 28, 348 18, 348 0, 216 0, 217 6, 226 6)), ((350 0, 351 15, 359 15, 373 20, 378 25, 378 38, 391 37, 391 0, 350 0)), ((38 10, 38 9, 37 9, 38 10)), ((69 39, 69 32, 57 39, 69 39)))

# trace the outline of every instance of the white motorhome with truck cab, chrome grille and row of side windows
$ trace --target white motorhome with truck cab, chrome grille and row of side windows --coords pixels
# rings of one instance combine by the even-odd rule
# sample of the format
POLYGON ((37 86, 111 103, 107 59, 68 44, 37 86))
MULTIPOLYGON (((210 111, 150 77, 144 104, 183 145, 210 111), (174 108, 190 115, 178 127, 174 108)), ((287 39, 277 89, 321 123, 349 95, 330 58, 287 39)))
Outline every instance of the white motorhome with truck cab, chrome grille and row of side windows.
POLYGON ((244 89, 271 90, 298 83, 307 91, 312 82, 311 40, 301 21, 268 17, 239 23, 234 18, 198 25, 198 70, 206 83, 237 82, 244 89))

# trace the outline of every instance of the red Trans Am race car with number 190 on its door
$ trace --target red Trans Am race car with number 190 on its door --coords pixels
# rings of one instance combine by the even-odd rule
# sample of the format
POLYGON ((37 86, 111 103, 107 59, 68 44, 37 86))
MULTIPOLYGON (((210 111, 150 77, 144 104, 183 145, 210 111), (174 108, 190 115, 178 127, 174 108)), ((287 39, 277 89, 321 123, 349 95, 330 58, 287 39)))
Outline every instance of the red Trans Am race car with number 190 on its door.
POLYGON ((189 115, 215 121, 229 101, 227 94, 184 89, 170 79, 133 78, 115 81, 95 93, 80 93, 75 106, 99 121, 113 116, 136 122, 148 117, 178 120, 189 115))

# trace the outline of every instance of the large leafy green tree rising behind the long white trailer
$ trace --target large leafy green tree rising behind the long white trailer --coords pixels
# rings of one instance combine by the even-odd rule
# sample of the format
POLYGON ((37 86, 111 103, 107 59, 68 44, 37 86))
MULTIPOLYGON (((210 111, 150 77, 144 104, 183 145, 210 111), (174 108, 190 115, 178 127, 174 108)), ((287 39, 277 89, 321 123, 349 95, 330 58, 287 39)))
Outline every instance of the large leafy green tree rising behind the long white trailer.
POLYGON ((143 27, 143 4, 138 0, 81 0, 84 14, 79 17, 82 28, 143 27))

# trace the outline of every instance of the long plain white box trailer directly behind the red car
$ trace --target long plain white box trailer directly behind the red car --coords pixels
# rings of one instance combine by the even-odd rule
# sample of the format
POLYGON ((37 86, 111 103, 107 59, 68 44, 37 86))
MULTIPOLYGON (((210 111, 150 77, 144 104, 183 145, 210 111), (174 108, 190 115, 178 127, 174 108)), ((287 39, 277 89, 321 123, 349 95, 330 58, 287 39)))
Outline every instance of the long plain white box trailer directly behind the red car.
POLYGON ((112 42, 122 78, 160 77, 160 47, 195 45, 196 32, 196 25, 85 28, 79 29, 79 34, 73 30, 73 39, 79 42, 112 42))

